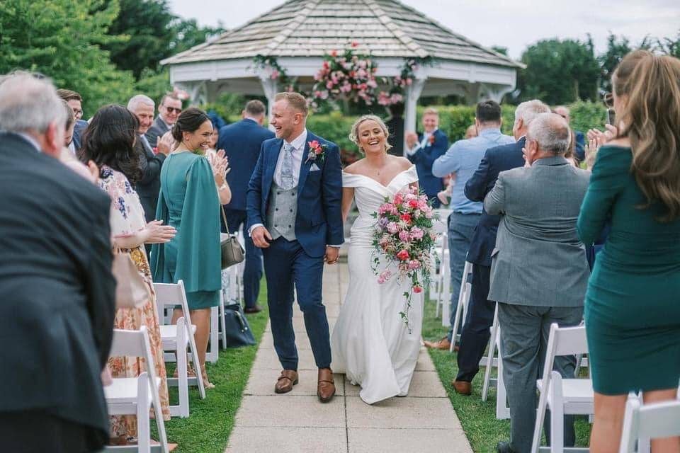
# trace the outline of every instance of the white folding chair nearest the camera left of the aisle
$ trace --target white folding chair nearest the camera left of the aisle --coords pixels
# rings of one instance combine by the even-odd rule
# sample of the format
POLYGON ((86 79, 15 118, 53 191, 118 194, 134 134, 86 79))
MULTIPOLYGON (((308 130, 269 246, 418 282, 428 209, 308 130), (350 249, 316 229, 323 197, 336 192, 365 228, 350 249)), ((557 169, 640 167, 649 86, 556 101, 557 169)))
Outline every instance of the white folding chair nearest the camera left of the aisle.
MULTIPOLYGON (((109 415, 137 415, 136 450, 141 453, 149 453, 152 451, 149 409, 153 406, 160 439, 158 447, 163 453, 169 452, 163 412, 158 396, 158 386, 161 379, 156 376, 147 328, 142 326, 139 331, 114 329, 111 355, 113 357, 143 357, 147 363, 147 370, 140 373, 138 377, 113 378, 112 384, 104 387, 109 415)), ((108 446, 105 450, 130 451, 130 447, 108 446)), ((157 451, 157 448, 154 448, 154 451, 157 451)))

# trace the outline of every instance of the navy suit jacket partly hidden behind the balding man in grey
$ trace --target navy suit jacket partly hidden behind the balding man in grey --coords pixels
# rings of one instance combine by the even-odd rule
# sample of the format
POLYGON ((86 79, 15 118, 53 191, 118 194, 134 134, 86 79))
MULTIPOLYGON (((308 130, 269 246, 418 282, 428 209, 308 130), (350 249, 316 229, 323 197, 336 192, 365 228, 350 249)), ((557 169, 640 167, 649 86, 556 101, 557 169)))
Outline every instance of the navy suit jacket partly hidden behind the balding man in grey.
MULTIPOLYGON (((523 166, 522 148, 525 142, 522 137, 519 142, 487 149, 477 171, 465 184, 465 196, 472 201, 484 201, 487 193, 494 188, 498 173, 523 166)), ((470 241, 470 250, 467 251, 467 261, 491 266, 491 252, 496 245, 496 233, 500 222, 501 216, 489 215, 482 210, 480 223, 477 224, 470 241)))

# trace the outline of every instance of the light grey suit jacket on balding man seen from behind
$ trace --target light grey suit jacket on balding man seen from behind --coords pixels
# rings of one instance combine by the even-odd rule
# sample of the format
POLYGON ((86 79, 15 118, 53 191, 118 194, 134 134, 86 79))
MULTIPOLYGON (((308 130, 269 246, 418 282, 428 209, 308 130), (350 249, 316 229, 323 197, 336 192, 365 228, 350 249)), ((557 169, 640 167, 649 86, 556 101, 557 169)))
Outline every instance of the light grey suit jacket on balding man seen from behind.
POLYGON ((502 215, 489 300, 583 306, 590 271, 576 221, 589 178, 560 156, 499 173, 484 200, 489 214, 502 215))

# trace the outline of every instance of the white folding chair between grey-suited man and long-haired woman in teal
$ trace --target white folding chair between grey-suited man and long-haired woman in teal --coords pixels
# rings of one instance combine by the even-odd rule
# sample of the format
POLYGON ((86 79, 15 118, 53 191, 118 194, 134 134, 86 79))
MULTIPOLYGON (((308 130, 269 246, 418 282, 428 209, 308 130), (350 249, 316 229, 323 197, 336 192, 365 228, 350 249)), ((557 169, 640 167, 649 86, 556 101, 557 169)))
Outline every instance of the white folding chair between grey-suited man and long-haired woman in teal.
MULTIPOLYGON (((559 372, 553 371, 555 357, 558 355, 587 354, 588 342, 585 326, 563 327, 553 323, 550 326, 548 348, 545 351, 543 379, 536 382, 540 398, 536 425, 533 428, 531 452, 565 451, 565 415, 591 415, 594 413, 594 393, 591 379, 563 379, 559 372), (540 447, 545 411, 550 408, 550 447, 540 447)), ((570 448, 570 452, 587 452, 588 449, 570 448)))

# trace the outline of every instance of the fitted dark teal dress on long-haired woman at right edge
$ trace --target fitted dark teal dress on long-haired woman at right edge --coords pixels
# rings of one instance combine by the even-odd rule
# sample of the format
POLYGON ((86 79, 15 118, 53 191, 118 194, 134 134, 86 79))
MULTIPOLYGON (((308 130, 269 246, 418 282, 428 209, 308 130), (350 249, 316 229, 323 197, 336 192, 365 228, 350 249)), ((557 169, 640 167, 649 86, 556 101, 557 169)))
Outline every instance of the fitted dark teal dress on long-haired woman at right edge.
POLYGON ((677 388, 680 379, 680 220, 645 202, 630 173, 630 148, 604 146, 595 161, 577 224, 597 255, 584 316, 593 387, 606 395, 677 388))

